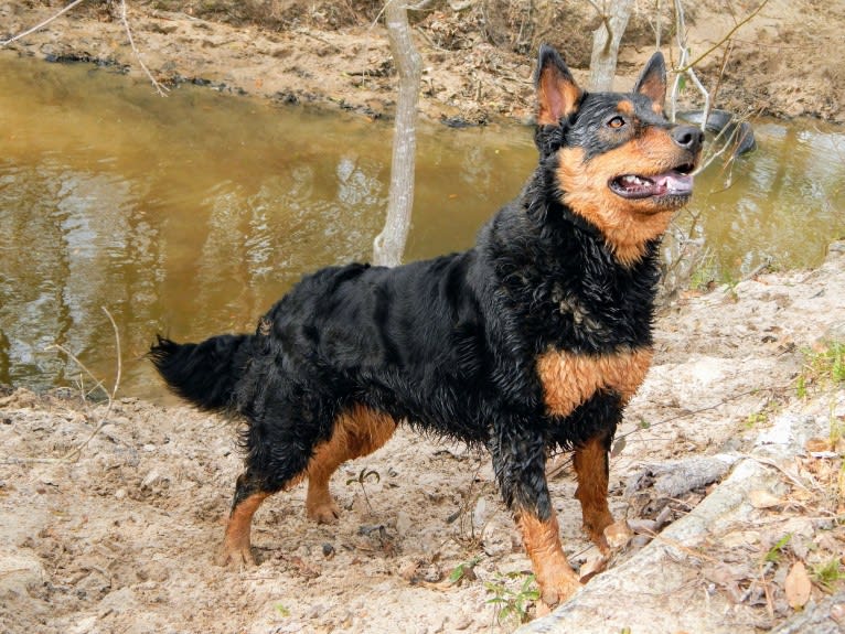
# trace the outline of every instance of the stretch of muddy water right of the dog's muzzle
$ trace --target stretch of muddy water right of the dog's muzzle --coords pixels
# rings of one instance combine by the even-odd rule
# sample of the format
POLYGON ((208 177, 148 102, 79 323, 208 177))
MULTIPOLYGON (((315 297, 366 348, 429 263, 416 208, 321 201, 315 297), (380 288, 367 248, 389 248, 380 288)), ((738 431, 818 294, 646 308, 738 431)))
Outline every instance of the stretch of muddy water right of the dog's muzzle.
POLYGON ((845 132, 820 122, 758 122, 759 151, 728 178, 715 165, 696 183, 692 208, 725 279, 762 262, 811 267, 845 236, 845 132), (729 186, 725 189, 726 181, 729 186))

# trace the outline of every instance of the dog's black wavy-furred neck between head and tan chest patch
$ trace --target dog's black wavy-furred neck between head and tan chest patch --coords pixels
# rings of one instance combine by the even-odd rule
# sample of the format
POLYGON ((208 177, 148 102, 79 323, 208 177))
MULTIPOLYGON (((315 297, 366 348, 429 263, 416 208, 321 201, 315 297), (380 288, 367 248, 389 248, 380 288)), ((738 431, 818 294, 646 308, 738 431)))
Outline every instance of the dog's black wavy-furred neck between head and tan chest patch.
POLYGON ((542 198, 537 187, 547 184, 542 171, 479 236, 477 248, 495 271, 496 292, 524 312, 515 315, 520 327, 528 339, 536 332, 532 345, 539 350, 556 346, 548 337, 555 330, 548 324, 569 327, 567 311, 586 315, 593 324, 569 334, 568 341, 579 342, 585 351, 650 344, 660 240, 651 240, 634 265, 620 264, 601 233, 563 202, 556 197, 537 202, 542 198), (616 324, 620 310, 625 314, 623 329, 616 324))

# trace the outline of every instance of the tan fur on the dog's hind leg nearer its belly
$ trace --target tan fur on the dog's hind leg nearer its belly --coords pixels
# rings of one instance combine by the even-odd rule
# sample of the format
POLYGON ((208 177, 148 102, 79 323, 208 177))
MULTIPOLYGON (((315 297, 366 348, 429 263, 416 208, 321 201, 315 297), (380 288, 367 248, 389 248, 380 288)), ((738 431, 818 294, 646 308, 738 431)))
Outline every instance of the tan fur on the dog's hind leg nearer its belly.
POLYGON ((321 443, 308 463, 306 513, 318 524, 334 524, 340 517, 329 491, 332 473, 345 461, 366 455, 387 442, 396 430, 391 416, 355 405, 334 421, 332 437, 321 443))

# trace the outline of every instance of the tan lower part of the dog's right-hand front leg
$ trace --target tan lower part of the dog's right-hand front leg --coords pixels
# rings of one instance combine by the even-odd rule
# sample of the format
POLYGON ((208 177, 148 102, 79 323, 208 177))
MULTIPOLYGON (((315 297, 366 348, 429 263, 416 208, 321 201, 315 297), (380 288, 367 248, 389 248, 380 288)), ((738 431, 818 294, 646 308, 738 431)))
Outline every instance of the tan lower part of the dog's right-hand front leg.
POLYGON ((581 503, 584 529, 602 552, 608 551, 605 529, 613 524, 608 508, 608 452, 603 440, 592 438, 575 450, 573 462, 578 476, 575 496, 581 503))

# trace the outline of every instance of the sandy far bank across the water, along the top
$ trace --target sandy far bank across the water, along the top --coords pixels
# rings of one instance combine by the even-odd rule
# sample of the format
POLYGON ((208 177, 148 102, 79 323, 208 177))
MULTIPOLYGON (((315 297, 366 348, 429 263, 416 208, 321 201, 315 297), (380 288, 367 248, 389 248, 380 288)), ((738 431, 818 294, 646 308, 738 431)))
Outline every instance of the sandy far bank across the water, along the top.
MULTIPOLYGON (((63 4, 0 2, 0 39, 32 26, 63 4)), ((165 85, 195 82, 282 104, 343 108, 370 117, 389 116, 395 106, 393 61, 383 26, 373 22, 377 2, 128 4, 140 57, 165 85)), ((530 30, 526 2, 436 3, 435 10, 415 14, 414 34, 424 57, 419 106, 424 116, 466 123, 530 120, 534 114, 530 82, 539 41, 556 45, 576 78, 586 83, 591 30, 598 25, 595 11, 586 2, 567 3, 559 10, 555 3, 532 4, 537 6, 534 20, 545 20, 531 30, 531 37, 523 39, 513 33, 530 30)), ((720 42, 756 6, 723 0, 694 3, 687 15, 693 55, 720 42)), ((94 62, 141 76, 115 7, 114 2, 85 3, 12 47, 21 54, 94 62)), ((620 89, 631 86, 654 46, 653 9, 645 2, 635 7, 620 50, 620 89)), ((666 14, 664 30, 671 22, 666 14)), ((843 32, 842 2, 768 0, 752 21, 732 34, 727 58, 719 49, 698 68, 718 107, 741 115, 845 122, 843 32)), ((664 44, 667 41, 672 37, 664 33, 664 44)), ((676 60, 676 51, 664 45, 664 52, 676 60)), ((700 107, 695 93, 686 97, 682 96, 682 103, 700 107)))

